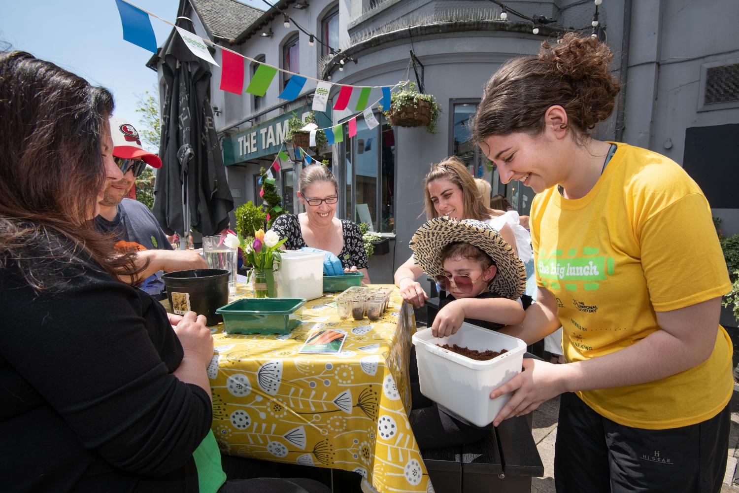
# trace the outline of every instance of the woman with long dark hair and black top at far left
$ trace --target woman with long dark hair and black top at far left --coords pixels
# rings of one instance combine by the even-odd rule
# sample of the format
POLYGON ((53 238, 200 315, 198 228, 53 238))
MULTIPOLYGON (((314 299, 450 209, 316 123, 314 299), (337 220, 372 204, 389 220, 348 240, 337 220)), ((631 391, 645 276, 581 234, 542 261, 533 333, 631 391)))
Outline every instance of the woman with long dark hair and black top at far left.
POLYGON ((92 225, 122 176, 112 110, 106 89, 28 53, 0 54, 2 487, 234 491, 210 431, 205 317, 168 317, 121 281, 142 268, 92 225))

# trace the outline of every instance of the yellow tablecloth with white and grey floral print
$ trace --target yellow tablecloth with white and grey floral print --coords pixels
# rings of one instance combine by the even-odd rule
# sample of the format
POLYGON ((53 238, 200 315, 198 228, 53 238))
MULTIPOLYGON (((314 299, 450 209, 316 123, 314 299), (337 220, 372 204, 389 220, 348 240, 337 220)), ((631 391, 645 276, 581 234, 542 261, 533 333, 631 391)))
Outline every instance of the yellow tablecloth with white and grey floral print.
POLYGON ((379 320, 341 320, 327 305, 334 296, 307 302, 302 324, 284 336, 211 328, 219 446, 229 455, 358 472, 384 493, 432 492, 408 421, 412 308, 395 289, 379 320), (347 331, 341 353, 299 353, 307 333, 322 327, 347 331))

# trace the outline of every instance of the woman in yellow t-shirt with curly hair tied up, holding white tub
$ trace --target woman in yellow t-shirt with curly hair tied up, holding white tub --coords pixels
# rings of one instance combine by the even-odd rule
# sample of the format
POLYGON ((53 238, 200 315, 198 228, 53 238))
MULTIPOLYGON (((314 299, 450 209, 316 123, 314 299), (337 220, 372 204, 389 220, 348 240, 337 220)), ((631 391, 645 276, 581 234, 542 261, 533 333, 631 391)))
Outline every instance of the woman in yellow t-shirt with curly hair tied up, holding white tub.
POLYGON ((525 360, 495 418, 562 394, 558 492, 718 492, 726 468, 732 344, 718 324, 729 276, 706 197, 672 160, 588 131, 619 83, 596 38, 565 34, 486 85, 473 138, 503 183, 537 192, 537 303, 502 331, 564 328, 568 364, 525 360))

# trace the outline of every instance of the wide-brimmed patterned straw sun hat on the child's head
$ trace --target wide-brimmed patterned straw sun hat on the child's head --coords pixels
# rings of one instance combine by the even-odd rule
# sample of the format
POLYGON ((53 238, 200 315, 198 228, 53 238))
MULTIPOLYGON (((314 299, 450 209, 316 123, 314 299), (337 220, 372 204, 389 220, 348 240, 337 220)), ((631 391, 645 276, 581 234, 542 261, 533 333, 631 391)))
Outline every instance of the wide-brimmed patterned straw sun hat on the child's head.
POLYGON ((430 276, 443 276, 441 250, 449 243, 464 242, 488 254, 497 273, 488 290, 509 299, 519 299, 526 288, 526 268, 505 239, 485 222, 466 219, 455 221, 449 217, 435 217, 418 228, 410 248, 415 264, 430 276))

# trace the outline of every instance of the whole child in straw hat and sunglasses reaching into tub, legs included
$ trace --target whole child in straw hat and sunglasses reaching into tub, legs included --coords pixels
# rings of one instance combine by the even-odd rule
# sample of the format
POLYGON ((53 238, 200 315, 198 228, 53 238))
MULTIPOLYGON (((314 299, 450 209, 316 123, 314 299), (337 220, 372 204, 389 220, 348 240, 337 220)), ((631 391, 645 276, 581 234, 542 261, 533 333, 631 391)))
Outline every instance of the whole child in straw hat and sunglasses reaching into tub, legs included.
MULTIPOLYGON (((452 335, 462 322, 496 330, 523 321, 520 297, 526 285, 525 267, 490 225, 436 217, 418 228, 410 247, 416 265, 448 293, 440 299, 432 324, 434 336, 452 335)), ((414 375, 411 384, 411 426, 421 449, 472 443, 490 432, 490 425, 475 426, 423 397, 414 375)))

